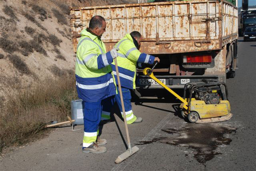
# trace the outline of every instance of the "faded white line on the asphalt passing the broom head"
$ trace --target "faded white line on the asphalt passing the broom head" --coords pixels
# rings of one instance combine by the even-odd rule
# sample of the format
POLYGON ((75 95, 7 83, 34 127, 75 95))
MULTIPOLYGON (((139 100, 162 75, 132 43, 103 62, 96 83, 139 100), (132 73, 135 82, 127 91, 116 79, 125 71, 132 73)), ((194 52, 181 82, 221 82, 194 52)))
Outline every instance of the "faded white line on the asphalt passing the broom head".
MULTIPOLYGON (((156 137, 156 131, 159 130, 161 127, 164 127, 171 119, 171 115, 173 115, 173 113, 168 113, 166 115, 166 117, 164 117, 164 119, 162 119, 162 121, 160 121, 158 123, 158 125, 156 125, 156 127, 154 127, 141 141, 146 141, 148 140, 149 138, 154 138, 156 137)), ((111 171, 122 171, 123 169, 125 169, 127 166, 131 166, 132 165, 132 162, 134 162, 136 160, 136 156, 138 154, 140 154, 140 152, 142 150, 144 150, 146 148, 146 145, 144 145, 144 147, 140 148, 140 150, 135 153, 134 155, 131 156, 130 159, 128 159, 129 161, 126 162, 125 164, 123 163, 120 163, 120 164, 117 164, 115 167, 113 167, 111 169, 111 171)))

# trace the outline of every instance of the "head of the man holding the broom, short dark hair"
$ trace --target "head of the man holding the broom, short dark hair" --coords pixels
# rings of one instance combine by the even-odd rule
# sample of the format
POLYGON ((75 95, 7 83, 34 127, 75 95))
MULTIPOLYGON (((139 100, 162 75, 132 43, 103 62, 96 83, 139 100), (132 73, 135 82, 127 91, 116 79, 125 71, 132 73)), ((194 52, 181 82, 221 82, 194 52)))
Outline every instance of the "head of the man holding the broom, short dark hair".
POLYGON ((102 16, 94 16, 90 20, 89 29, 97 36, 102 36, 106 32, 106 21, 102 16))

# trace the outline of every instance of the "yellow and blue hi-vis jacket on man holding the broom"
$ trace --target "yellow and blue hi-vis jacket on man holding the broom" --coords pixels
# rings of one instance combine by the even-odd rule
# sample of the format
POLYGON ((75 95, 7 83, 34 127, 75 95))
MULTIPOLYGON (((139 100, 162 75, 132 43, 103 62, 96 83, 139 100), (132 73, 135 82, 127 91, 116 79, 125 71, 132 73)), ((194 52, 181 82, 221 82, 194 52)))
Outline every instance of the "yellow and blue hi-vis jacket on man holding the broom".
POLYGON ((116 85, 109 64, 113 62, 104 43, 82 30, 76 51, 76 89, 78 97, 96 102, 116 94, 116 85))

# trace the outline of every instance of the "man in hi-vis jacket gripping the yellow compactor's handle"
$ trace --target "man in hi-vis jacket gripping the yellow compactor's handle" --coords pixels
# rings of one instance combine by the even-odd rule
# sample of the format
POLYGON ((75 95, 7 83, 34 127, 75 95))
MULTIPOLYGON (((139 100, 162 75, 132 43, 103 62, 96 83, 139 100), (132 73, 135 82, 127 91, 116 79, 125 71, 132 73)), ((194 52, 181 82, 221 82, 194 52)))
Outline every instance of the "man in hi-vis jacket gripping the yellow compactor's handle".
MULTIPOLYGON (((140 49, 140 41, 142 40, 142 36, 139 32, 133 31, 130 34, 126 34, 124 38, 122 38, 114 47, 118 48, 118 57, 116 58, 118 64, 118 71, 120 76, 120 83, 122 88, 122 95, 124 99, 124 108, 126 113, 126 121, 128 124, 131 123, 140 123, 142 122, 141 117, 136 117, 132 111, 131 105, 131 93, 130 89, 135 89, 135 77, 136 77, 136 64, 146 63, 153 64, 154 61, 160 62, 158 57, 154 57, 148 54, 141 53, 140 49)), ((116 80, 116 84, 118 85, 116 78, 116 68, 115 63, 111 64, 113 74, 116 80)), ((122 112, 122 106, 120 101, 120 93, 117 88, 118 94, 115 95, 115 98, 109 97, 106 103, 108 105, 103 106, 102 111, 102 119, 110 119, 110 109, 113 105, 114 101, 117 102, 118 107, 122 112)))

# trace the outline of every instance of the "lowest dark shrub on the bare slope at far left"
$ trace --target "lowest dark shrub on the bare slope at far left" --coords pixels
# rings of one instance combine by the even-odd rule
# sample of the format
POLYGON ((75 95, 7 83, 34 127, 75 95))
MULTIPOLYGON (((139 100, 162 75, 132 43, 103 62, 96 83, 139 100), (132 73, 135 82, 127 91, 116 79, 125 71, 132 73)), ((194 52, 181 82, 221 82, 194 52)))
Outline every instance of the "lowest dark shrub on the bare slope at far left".
POLYGON ((17 55, 8 55, 9 60, 12 62, 13 66, 22 74, 31 74, 28 66, 21 58, 17 55))

